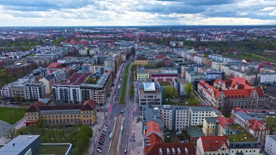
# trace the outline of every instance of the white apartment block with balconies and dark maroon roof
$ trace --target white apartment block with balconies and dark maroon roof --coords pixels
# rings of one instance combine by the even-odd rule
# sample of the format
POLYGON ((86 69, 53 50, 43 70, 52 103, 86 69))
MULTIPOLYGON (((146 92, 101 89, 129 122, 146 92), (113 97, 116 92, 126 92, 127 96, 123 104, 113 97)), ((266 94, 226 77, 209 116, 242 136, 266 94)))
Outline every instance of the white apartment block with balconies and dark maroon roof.
POLYGON ((74 73, 67 80, 61 80, 53 84, 53 99, 56 102, 80 103, 82 94, 80 85, 87 82, 92 73, 74 73))

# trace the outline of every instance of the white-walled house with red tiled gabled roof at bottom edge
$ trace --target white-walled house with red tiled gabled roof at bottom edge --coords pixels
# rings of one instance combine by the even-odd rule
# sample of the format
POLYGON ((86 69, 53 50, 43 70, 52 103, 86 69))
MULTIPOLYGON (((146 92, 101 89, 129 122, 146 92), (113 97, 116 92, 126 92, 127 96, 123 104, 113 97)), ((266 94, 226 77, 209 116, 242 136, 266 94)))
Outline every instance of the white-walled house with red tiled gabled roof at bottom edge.
POLYGON ((229 154, 229 144, 224 136, 202 136, 197 140, 197 155, 229 154))

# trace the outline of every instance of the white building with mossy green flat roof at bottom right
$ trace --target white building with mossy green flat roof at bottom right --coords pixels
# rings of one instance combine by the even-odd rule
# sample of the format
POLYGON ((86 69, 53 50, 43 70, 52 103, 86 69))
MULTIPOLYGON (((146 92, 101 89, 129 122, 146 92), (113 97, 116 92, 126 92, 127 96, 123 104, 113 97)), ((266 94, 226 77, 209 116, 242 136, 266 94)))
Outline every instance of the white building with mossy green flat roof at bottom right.
POLYGON ((260 140, 239 124, 226 124, 225 132, 229 145, 229 155, 259 154, 260 140))

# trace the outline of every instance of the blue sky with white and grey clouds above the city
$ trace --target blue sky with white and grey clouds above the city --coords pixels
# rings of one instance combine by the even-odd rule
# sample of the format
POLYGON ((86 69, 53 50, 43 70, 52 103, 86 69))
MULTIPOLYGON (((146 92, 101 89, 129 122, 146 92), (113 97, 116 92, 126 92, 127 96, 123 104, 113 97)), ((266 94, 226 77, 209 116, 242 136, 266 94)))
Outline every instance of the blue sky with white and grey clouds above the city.
POLYGON ((276 25, 276 0, 0 0, 3 26, 276 25))

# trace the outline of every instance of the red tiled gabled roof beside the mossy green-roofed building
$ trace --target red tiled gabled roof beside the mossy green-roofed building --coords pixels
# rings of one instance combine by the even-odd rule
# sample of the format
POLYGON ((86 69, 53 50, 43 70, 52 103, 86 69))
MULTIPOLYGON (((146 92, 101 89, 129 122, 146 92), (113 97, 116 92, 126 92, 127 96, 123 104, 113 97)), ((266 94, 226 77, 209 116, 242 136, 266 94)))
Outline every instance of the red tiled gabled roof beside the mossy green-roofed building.
POLYGON ((202 136, 201 143, 203 151, 217 151, 223 144, 229 148, 226 135, 223 136, 202 136))

